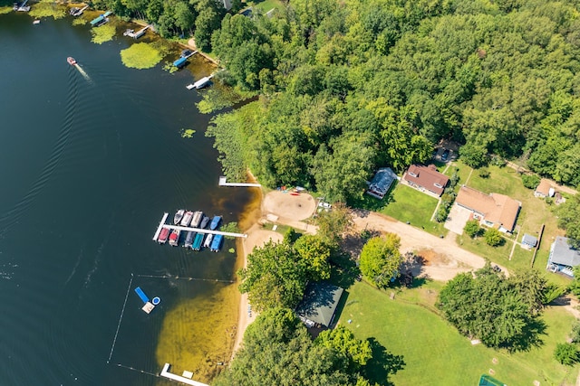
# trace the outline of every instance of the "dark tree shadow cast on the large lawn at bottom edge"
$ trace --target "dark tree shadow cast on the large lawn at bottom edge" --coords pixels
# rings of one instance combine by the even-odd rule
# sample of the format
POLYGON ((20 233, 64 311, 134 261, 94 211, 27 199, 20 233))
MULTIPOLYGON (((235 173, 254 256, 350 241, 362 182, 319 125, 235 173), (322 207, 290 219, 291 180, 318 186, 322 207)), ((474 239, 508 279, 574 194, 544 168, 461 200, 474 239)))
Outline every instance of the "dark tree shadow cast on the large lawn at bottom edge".
POLYGON ((393 385, 389 377, 402 370, 407 363, 403 360, 402 355, 389 353, 375 338, 369 338, 369 343, 371 344, 372 359, 364 367, 366 379, 381 386, 393 385))

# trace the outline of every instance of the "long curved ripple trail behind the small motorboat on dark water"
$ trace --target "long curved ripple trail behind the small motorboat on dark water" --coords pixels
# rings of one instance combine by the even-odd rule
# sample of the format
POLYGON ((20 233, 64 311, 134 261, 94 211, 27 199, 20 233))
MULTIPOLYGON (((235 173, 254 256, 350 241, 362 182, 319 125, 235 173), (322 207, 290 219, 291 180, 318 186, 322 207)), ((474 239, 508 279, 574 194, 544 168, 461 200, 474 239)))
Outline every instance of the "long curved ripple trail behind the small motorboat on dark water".
POLYGON ((73 76, 69 77, 69 89, 71 92, 66 100, 63 127, 61 127, 61 131, 59 132, 56 144, 53 147, 53 151, 46 161, 40 176, 36 179, 28 193, 26 193, 22 200, 17 202, 12 209, 0 215, 0 238, 4 235, 5 231, 7 231, 12 225, 14 225, 15 222, 18 221, 18 219, 21 217, 21 214, 32 204, 32 202, 34 202, 34 198, 36 198, 38 193, 43 190, 43 187, 46 185, 54 170, 56 169, 61 155, 63 155, 64 148, 66 147, 69 141, 69 137, 71 136, 74 110, 76 108, 77 85, 73 76))

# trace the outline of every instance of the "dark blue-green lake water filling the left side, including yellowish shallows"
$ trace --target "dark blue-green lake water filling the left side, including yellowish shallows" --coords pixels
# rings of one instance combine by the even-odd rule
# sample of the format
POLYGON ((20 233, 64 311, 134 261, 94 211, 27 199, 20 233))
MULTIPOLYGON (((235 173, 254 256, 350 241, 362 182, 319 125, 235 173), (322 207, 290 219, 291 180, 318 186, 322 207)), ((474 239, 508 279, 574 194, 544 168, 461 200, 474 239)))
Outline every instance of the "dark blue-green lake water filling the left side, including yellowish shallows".
POLYGON ((164 362, 208 381, 235 334, 235 242, 151 238, 182 207, 237 221, 251 193, 218 188, 189 71, 128 69, 133 40, 90 40, 71 19, 0 15, 0 383, 170 384, 150 375, 164 362), (137 286, 162 299, 150 315, 137 286))

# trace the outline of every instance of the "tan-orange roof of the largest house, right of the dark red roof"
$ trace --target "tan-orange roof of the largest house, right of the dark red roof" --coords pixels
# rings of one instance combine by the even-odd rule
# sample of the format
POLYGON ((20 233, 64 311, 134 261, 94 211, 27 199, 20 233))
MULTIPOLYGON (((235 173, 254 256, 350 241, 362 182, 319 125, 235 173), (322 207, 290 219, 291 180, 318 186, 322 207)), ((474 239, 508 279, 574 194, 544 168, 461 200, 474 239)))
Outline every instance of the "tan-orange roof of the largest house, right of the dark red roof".
POLYGON ((486 221, 498 224, 507 231, 516 226, 517 213, 521 203, 499 193, 482 193, 469 186, 461 186, 455 199, 459 205, 481 213, 486 221))

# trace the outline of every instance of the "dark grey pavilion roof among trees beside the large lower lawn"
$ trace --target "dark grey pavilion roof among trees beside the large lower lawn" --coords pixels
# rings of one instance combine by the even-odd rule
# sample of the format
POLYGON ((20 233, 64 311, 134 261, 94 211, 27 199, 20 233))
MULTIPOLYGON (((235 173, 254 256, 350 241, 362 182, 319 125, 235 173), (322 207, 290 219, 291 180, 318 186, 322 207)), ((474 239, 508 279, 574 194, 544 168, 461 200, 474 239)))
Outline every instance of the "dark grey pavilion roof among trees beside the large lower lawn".
POLYGON ((342 295, 341 287, 326 282, 311 283, 306 287, 302 302, 296 307, 296 314, 329 327, 342 295))

